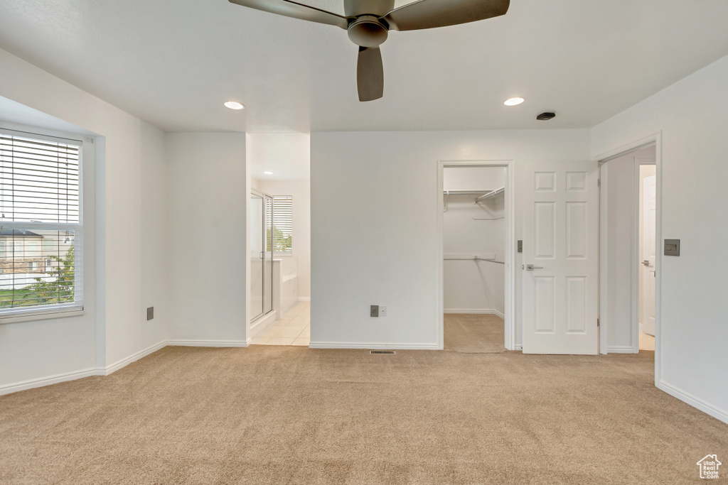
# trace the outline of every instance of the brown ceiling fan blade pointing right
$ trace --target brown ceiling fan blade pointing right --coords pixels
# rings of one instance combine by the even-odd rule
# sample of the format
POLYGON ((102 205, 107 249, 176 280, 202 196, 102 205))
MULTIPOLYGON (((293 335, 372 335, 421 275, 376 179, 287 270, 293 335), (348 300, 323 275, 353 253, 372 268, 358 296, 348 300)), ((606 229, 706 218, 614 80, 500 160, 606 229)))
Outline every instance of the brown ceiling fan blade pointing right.
POLYGON ((419 0, 384 16, 395 31, 446 27, 505 15, 510 0, 419 0))

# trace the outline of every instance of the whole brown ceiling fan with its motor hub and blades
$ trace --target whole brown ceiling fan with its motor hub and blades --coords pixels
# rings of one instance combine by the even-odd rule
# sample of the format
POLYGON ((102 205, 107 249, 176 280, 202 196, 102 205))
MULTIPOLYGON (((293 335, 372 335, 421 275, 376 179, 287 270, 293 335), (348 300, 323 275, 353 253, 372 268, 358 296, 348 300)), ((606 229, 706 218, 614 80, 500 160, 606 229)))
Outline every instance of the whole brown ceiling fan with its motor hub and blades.
POLYGON ((345 29, 359 46, 357 85, 360 101, 384 94, 384 69, 379 46, 389 31, 446 27, 505 15, 510 0, 418 0, 395 9, 395 0, 344 0, 338 15, 292 0, 229 0, 233 4, 345 29))

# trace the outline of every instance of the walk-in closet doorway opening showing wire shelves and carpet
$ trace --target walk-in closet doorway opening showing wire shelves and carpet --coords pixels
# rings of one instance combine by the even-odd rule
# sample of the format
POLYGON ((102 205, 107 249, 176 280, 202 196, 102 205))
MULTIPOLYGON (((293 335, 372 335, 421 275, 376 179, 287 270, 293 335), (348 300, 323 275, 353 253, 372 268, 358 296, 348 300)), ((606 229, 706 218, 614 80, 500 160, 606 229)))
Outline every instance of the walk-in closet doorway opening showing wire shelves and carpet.
POLYGON ((510 164, 443 163, 440 288, 443 348, 513 348, 513 193, 510 164))

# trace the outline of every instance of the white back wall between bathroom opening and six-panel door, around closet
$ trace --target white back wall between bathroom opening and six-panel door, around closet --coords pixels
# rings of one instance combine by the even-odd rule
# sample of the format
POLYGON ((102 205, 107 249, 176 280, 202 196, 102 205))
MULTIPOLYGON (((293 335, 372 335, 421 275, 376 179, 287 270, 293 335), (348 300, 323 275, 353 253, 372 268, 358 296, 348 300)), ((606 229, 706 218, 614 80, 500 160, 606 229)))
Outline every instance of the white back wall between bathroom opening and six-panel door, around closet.
POLYGON ((588 160, 589 131, 312 133, 312 345, 436 348, 437 162, 510 159, 518 187, 529 165, 588 160))

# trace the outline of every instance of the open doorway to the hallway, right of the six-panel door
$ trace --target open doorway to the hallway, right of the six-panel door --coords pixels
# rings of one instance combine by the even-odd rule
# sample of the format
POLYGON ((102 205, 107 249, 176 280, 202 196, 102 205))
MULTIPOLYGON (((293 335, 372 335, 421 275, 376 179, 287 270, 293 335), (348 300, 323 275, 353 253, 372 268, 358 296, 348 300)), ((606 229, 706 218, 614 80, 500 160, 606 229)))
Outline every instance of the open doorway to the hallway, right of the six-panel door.
POLYGON ((652 143, 600 166, 601 353, 655 350, 656 161, 652 143))

